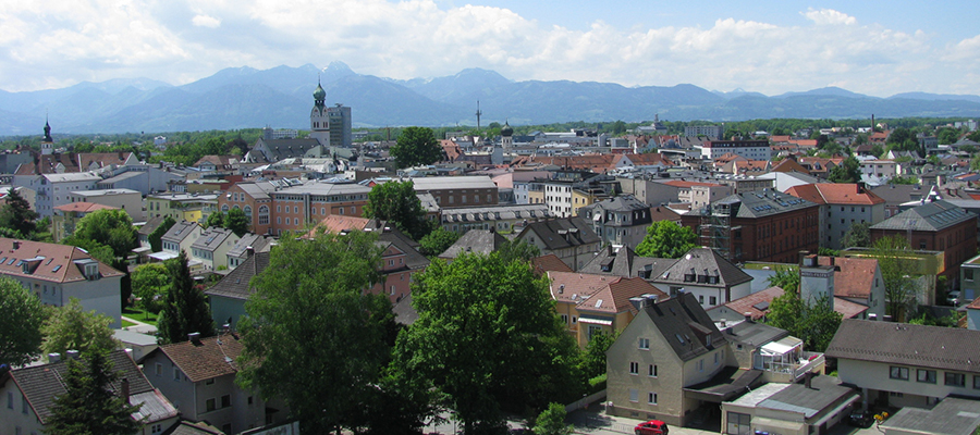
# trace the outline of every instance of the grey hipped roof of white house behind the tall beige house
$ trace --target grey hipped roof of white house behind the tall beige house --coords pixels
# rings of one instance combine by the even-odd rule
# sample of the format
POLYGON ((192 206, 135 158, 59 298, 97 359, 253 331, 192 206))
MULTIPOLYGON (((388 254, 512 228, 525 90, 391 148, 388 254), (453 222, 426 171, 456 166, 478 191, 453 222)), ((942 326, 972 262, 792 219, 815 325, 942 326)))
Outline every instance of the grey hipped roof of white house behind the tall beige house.
MULTIPOLYGON (((811 202, 812 203, 812 202, 811 202)), ((749 274, 738 269, 731 261, 721 257, 709 248, 694 248, 684 257, 667 268, 658 276, 652 276, 656 283, 697 285, 706 287, 732 287, 752 281, 749 274), (690 275, 694 269, 695 281, 685 281, 685 274, 690 275), (703 282, 700 276, 718 276, 718 283, 703 282)))

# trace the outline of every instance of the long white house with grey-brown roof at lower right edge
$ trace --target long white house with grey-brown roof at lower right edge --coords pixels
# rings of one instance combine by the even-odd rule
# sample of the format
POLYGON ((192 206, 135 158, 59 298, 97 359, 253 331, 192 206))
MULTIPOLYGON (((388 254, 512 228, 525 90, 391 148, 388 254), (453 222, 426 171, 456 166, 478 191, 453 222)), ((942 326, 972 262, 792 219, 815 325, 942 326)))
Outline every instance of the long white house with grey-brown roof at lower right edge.
POLYGON ((826 348, 863 408, 931 408, 948 396, 980 398, 980 331, 845 320, 826 348))

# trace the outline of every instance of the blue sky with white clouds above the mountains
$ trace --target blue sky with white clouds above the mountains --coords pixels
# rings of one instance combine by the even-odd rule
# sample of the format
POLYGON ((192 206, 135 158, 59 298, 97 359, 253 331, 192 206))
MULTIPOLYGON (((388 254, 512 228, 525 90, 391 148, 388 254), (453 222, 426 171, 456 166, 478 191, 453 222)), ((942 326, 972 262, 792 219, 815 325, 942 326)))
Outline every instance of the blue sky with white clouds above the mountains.
POLYGON ((0 0, 0 89, 341 61, 400 79, 977 95, 978 18, 976 0, 0 0))

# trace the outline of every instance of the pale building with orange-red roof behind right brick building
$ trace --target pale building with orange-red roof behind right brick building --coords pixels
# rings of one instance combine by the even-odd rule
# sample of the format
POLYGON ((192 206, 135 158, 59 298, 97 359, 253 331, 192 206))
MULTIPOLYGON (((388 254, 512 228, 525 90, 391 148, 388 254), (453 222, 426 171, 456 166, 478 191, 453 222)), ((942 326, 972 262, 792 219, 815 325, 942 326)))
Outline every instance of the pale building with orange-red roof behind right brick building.
POLYGON ((786 194, 820 204, 820 246, 840 250, 854 224, 884 221, 885 200, 862 184, 817 183, 791 187, 786 194))

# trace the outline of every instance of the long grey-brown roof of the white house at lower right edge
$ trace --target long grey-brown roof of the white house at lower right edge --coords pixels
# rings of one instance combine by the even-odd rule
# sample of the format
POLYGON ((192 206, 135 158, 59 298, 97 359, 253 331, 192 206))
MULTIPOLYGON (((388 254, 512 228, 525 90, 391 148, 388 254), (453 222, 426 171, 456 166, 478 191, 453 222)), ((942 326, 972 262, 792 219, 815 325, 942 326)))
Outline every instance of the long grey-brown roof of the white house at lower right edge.
POLYGON ((845 319, 825 355, 980 374, 980 331, 845 319))

